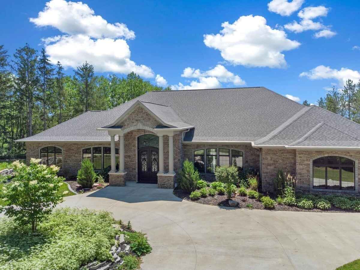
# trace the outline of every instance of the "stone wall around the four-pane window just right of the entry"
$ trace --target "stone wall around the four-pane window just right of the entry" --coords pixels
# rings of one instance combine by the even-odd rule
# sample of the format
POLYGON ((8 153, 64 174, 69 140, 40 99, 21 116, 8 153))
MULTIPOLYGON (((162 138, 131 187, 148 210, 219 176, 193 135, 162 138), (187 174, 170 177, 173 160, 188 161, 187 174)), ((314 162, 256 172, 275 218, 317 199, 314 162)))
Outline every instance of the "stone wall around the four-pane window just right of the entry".
MULTIPOLYGON (((259 170, 260 165, 260 152, 258 149, 253 148, 251 145, 245 144, 183 144, 184 159, 189 159, 194 161, 194 151, 199 149, 205 150, 206 158, 206 149, 207 148, 227 148, 234 149, 243 152, 243 166, 247 168, 255 168, 259 170)), ((214 174, 201 174, 201 177, 207 181, 214 181, 214 174)))

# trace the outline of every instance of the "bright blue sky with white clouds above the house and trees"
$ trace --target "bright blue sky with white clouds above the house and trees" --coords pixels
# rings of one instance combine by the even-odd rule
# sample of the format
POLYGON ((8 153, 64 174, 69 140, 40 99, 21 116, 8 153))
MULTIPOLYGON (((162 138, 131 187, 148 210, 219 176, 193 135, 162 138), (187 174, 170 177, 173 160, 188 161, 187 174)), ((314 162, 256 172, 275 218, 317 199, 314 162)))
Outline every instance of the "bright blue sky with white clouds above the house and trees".
POLYGON ((360 79, 358 1, 51 0, 2 6, 0 44, 10 54, 26 42, 39 51, 45 46, 68 74, 87 60, 105 76, 134 70, 173 89, 265 86, 314 104, 332 85, 360 79))

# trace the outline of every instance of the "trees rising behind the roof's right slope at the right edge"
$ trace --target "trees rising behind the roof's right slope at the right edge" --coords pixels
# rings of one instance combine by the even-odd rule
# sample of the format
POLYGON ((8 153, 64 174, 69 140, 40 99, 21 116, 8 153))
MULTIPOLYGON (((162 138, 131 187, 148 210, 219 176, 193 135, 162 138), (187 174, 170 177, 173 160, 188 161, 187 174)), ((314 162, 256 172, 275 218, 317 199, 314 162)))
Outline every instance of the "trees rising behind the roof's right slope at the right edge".
MULTIPOLYGON (((354 83, 348 79, 343 89, 333 86, 317 103, 321 108, 360 123, 360 80, 354 83)), ((310 106, 307 100, 302 105, 310 106)))

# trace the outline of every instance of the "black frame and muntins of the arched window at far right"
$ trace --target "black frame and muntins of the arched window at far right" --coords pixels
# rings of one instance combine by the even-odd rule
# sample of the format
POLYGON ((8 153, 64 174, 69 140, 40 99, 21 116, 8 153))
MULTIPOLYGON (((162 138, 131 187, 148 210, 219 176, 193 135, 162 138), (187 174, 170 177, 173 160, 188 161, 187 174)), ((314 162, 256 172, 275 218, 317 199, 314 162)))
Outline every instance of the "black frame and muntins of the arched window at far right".
POLYGON ((347 157, 341 157, 341 156, 325 156, 325 157, 319 157, 319 158, 316 158, 312 161, 312 188, 313 189, 319 189, 319 190, 324 190, 324 189, 327 189, 327 190, 351 190, 351 191, 354 191, 355 190, 355 161, 353 161, 352 159, 350 158, 347 158, 347 157), (336 157, 339 159, 339 162, 338 164, 332 164, 332 163, 328 163, 328 158, 332 158, 332 157, 336 157), (321 158, 325 158, 325 163, 316 163, 317 160, 320 160, 321 158), (342 165, 341 163, 341 158, 346 158, 348 160, 350 160, 352 162, 352 165, 342 165), (325 167, 325 187, 324 188, 319 188, 319 187, 315 187, 314 186, 314 165, 316 166, 323 166, 325 167), (329 188, 328 187, 328 167, 339 167, 339 188, 329 188), (353 171, 354 171, 354 188, 353 189, 348 189, 348 188, 342 188, 342 175, 341 175, 341 169, 345 167, 345 168, 353 168, 353 171))

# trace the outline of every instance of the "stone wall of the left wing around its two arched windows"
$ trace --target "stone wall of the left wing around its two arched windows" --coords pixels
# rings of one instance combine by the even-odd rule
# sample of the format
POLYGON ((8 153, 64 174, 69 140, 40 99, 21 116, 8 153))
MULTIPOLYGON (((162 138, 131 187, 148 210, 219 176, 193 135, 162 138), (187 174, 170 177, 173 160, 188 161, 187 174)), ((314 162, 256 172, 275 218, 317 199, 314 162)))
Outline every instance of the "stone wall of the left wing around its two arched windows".
MULTIPOLYGON (((46 146, 55 146, 62 149, 63 168, 59 171, 61 174, 64 170, 68 170, 70 175, 77 175, 77 171, 81 167, 82 149, 87 147, 105 146, 110 147, 109 143, 26 143, 26 162, 30 162, 30 158, 40 158, 40 149, 46 146)), ((116 145, 118 148, 118 143, 116 145)))

